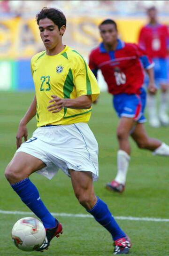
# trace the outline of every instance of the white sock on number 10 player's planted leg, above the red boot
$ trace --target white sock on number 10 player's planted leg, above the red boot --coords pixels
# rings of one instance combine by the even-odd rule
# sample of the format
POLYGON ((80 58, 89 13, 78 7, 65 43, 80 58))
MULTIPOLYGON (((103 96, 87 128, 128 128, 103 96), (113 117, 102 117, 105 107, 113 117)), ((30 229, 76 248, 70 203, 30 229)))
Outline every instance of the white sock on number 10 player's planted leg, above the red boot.
POLYGON ((129 166, 130 156, 123 150, 117 151, 117 175, 115 181, 125 184, 129 166))

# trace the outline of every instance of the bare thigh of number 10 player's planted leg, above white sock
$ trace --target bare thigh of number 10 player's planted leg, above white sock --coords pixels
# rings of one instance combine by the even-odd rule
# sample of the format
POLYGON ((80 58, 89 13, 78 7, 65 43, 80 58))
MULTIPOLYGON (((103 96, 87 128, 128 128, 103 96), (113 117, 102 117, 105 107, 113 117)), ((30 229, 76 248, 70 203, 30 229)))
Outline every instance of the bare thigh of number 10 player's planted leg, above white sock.
POLYGON ((121 117, 117 127, 117 137, 129 136, 131 129, 135 125, 134 118, 121 117))

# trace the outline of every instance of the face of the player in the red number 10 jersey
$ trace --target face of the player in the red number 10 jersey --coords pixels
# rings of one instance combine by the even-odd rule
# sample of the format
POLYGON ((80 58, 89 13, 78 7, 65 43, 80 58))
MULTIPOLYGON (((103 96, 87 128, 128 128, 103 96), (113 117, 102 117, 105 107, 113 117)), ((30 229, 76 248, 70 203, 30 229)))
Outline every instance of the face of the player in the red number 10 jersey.
POLYGON ((100 26, 100 35, 104 43, 113 44, 118 37, 114 24, 103 24, 100 26))

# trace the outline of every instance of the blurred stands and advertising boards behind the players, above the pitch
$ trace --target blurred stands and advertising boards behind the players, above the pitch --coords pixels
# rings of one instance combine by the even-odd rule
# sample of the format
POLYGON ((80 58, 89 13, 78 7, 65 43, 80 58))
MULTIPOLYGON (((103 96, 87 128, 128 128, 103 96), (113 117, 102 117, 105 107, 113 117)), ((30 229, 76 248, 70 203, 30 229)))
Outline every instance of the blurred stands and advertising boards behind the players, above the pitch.
MULTIPOLYGON (((160 21, 169 24, 169 1, 163 0, 0 0, 0 90, 33 89, 30 59, 45 49, 35 21, 41 8, 63 11, 67 17, 63 43, 87 60, 100 43, 98 25, 104 19, 115 19, 122 40, 137 42, 138 31, 147 22, 146 8, 153 5, 160 21)), ((106 88, 103 79, 101 86, 106 88)))

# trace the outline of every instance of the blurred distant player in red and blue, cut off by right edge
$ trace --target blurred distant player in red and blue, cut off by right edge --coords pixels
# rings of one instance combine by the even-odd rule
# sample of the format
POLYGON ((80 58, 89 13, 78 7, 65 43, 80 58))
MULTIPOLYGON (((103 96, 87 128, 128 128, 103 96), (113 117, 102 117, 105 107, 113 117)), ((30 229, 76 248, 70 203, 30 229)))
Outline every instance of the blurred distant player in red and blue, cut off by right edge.
MULTIPOLYGON (((154 75, 156 84, 161 88, 160 109, 157 114, 156 96, 147 94, 147 111, 149 124, 152 127, 169 125, 168 112, 168 69, 167 56, 169 49, 169 32, 166 25, 160 24, 157 19, 157 9, 151 7, 147 10, 149 23, 143 26, 139 32, 138 43, 146 49, 147 54, 154 61, 154 75)), ((146 79, 147 84, 147 79, 146 79)))

